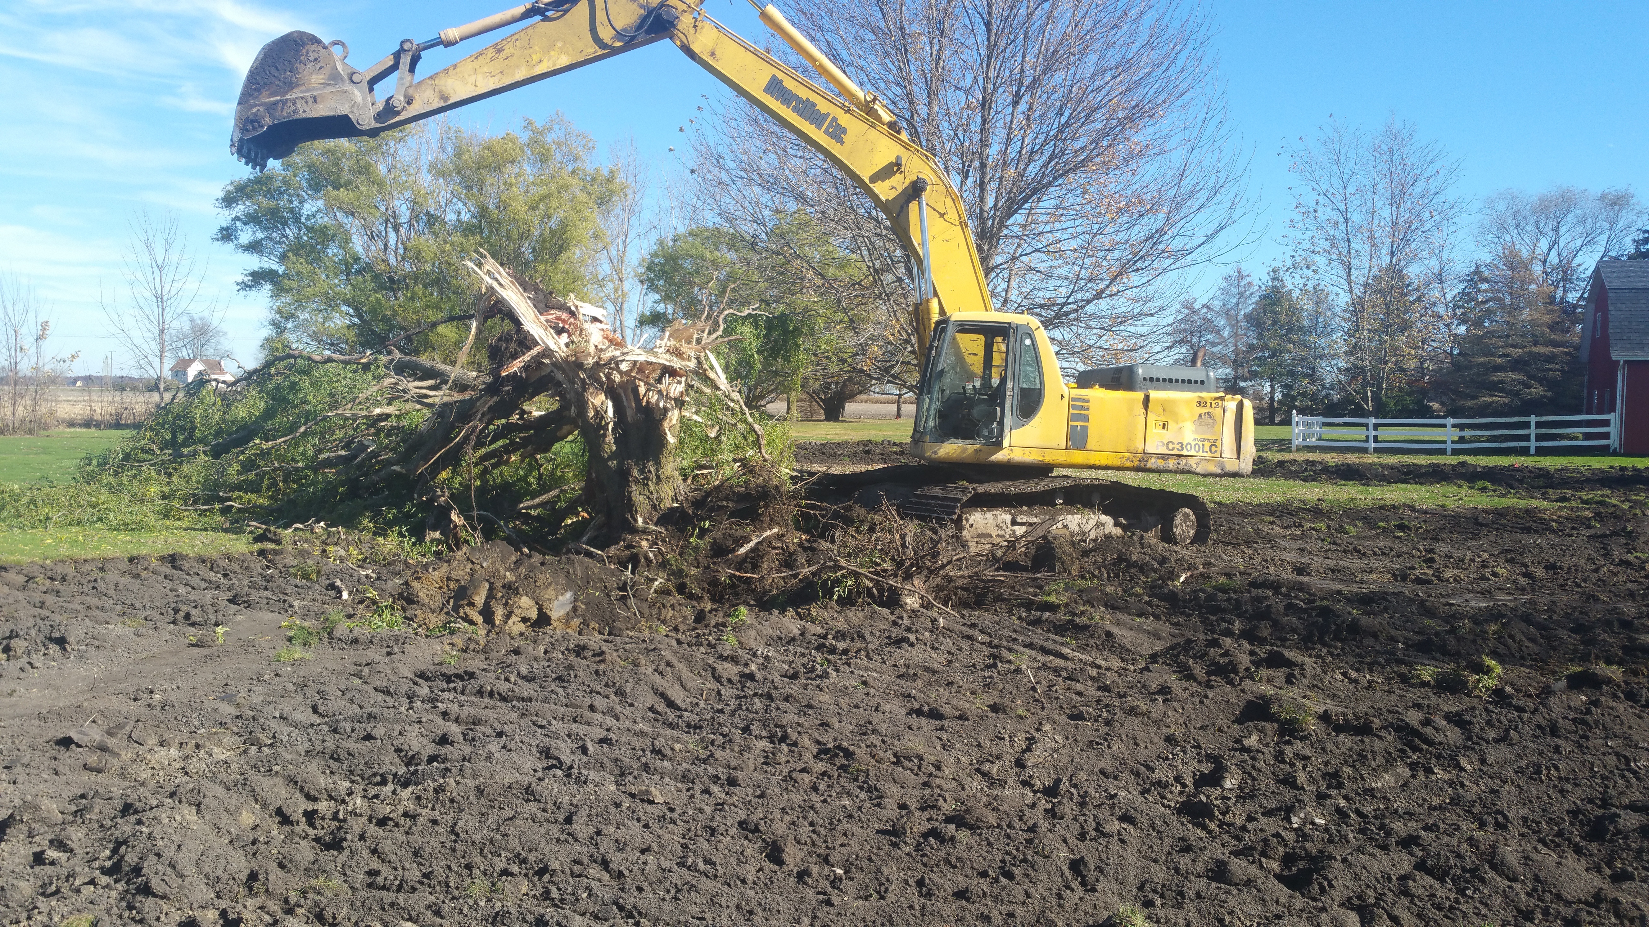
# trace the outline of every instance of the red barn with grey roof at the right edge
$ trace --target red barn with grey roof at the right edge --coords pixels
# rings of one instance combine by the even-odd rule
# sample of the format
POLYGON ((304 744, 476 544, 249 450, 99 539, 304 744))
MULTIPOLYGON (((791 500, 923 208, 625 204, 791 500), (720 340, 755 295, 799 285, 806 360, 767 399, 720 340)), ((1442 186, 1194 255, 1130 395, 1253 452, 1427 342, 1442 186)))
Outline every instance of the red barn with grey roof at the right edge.
POLYGON ((1649 261, 1598 261, 1580 333, 1581 414, 1621 412, 1621 452, 1649 454, 1649 261))

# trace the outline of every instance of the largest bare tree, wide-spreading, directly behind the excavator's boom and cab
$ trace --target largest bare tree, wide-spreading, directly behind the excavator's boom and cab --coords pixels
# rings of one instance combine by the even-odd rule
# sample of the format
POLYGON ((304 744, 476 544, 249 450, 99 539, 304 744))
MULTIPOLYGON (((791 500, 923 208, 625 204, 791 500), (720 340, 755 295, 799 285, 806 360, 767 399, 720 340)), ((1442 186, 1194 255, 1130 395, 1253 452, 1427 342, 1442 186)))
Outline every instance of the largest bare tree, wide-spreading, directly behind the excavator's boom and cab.
MULTIPOLYGON (((951 172, 998 305, 1036 313, 1070 361, 1138 345, 1176 295, 1169 275, 1220 254, 1245 214, 1207 23, 1172 0, 801 0, 793 12, 951 172)), ((821 157, 754 107, 712 122, 693 163, 726 224, 805 209, 874 285, 905 274, 886 219, 821 157)), ((897 294, 892 325, 909 327, 909 304, 897 294)))

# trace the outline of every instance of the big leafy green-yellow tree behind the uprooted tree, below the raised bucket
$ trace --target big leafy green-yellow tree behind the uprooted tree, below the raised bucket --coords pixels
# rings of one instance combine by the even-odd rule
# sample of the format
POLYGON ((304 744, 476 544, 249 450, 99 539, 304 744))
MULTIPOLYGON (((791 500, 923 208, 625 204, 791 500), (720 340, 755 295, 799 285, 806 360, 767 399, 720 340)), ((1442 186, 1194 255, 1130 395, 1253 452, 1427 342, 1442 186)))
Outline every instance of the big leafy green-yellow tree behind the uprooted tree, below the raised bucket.
MULTIPOLYGON (((257 262, 241 289, 269 295, 265 351, 358 353, 472 313, 462 259, 475 249, 551 290, 587 289, 600 213, 623 186, 592 152, 561 117, 501 135, 425 122, 312 142, 224 188, 216 239, 257 262)), ((434 330, 414 348, 450 360, 463 338, 434 330)))

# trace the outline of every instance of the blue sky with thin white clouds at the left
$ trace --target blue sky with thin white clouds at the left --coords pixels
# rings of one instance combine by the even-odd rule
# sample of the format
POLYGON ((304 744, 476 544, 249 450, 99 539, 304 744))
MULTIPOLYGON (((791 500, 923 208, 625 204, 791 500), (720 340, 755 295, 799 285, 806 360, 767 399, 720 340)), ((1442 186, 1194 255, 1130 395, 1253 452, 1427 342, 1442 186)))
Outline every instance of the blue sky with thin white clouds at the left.
MULTIPOLYGON (((56 320, 54 348, 96 369, 106 336, 99 292, 122 292, 120 251, 137 208, 175 209, 208 262, 204 290, 229 307, 233 353, 251 363, 262 304, 234 292, 242 259, 209 241, 213 200, 241 176, 228 150, 241 76, 257 48, 303 28, 373 61, 401 38, 490 15, 508 0, 7 0, 0 3, 0 271, 26 279, 56 320)), ((745 0, 707 0, 722 21, 767 41, 745 0)), ((1286 158, 1329 115, 1412 120, 1463 162, 1461 193, 1591 190, 1649 195, 1649 3, 1255 2, 1205 7, 1230 112, 1252 152, 1258 241, 1252 271, 1281 256, 1286 158)), ((444 66, 470 46, 434 51, 444 66)), ((843 63, 851 73, 851 63, 843 63)), ((872 87, 874 89, 874 87, 872 87)), ((510 129, 567 114, 604 145, 635 142, 661 170, 676 129, 724 87, 668 43, 495 97, 457 119, 510 129)), ((679 152, 678 152, 679 153, 679 152)), ((1214 272, 1217 274, 1217 271, 1214 272)), ((1204 274, 1207 277, 1210 274, 1204 274)), ((125 360, 119 361, 125 366, 125 360)))

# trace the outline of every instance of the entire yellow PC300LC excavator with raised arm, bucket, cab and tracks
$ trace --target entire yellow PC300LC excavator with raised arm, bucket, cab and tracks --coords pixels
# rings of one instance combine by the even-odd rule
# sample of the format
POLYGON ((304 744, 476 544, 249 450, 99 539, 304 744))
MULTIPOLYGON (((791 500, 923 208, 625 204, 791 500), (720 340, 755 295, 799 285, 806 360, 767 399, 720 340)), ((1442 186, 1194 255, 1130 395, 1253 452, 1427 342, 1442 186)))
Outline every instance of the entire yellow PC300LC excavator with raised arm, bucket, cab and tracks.
POLYGON ((1225 394, 1200 363, 1087 369, 1067 383, 1042 325, 993 308, 961 198, 938 162, 777 8, 768 5, 760 18, 836 92, 686 0, 539 0, 427 41, 402 40, 364 71, 348 63, 341 41, 287 33, 252 61, 229 145, 264 168, 303 142, 378 135, 669 40, 848 175, 887 216, 910 259, 922 358, 910 454, 927 465, 856 477, 861 490, 876 488, 912 516, 960 521, 971 541, 1054 526, 1205 541, 1209 510, 1194 495, 1054 470, 1247 475, 1250 402, 1225 394), (519 23, 529 25, 419 76, 424 53, 519 23))

